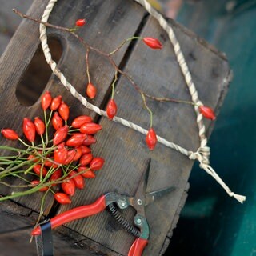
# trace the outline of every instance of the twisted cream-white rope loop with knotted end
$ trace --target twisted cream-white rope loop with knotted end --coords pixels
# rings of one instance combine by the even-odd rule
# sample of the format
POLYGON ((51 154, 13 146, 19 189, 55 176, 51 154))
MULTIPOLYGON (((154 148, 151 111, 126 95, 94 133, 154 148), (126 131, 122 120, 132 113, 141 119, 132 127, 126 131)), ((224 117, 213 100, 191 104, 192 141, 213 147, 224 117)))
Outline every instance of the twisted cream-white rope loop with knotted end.
MULTIPOLYGON (((170 42, 172 43, 174 47, 174 53, 176 55, 178 64, 182 70, 182 74, 185 78, 186 85, 188 86, 188 89, 190 90, 190 95, 192 98, 192 101, 194 102, 194 111, 197 116, 196 121, 198 124, 198 135, 200 138, 200 147, 197 152, 188 151, 182 146, 178 146, 174 142, 169 142, 165 138, 162 138, 160 136, 157 136, 158 142, 164 144, 165 146, 168 146, 182 154, 185 154, 190 159, 198 159, 200 162, 200 167, 205 170, 208 174, 210 174, 222 187, 224 190, 226 190, 226 193, 230 195, 230 197, 234 197, 238 200, 238 202, 244 202, 246 200, 245 196, 234 194, 228 186, 226 186, 225 182, 222 181, 222 178, 218 176, 218 174, 214 171, 214 169, 209 165, 209 157, 210 157, 210 148, 207 146, 207 138, 206 138, 206 128, 203 123, 202 114, 198 111, 198 106, 202 105, 202 102, 198 98, 198 92, 196 90, 196 87, 194 86, 194 82, 192 81, 192 77, 190 74, 190 71, 188 69, 188 66, 186 65, 186 60, 184 58, 184 55, 182 54, 182 50, 180 48, 180 45, 178 43, 178 40, 174 34, 174 30, 171 28, 171 26, 166 22, 165 18, 162 17, 161 14, 159 14, 156 10, 154 10, 146 0, 134 0, 138 3, 140 3, 144 8, 154 17, 158 20, 160 26, 162 26, 163 30, 166 31, 170 38, 170 42)), ((42 22, 47 22, 48 18, 50 16, 51 11, 53 10, 54 4, 58 2, 58 0, 50 0, 48 2, 48 5, 46 6, 46 10, 44 11, 42 15, 42 22)), ((106 111, 101 110, 98 108, 98 106, 94 106, 90 102, 87 102, 86 98, 84 98, 81 94, 78 94, 77 90, 75 90, 74 86, 68 82, 62 74, 62 72, 57 68, 56 62, 51 58, 50 49, 47 43, 47 36, 46 36, 46 26, 42 23, 40 24, 40 40, 42 42, 42 50, 46 57, 46 62, 50 65, 51 70, 54 72, 54 74, 60 79, 62 82, 62 85, 66 87, 67 90, 70 91, 70 93, 77 98, 80 102, 82 102, 82 105, 86 106, 86 108, 93 110, 95 113, 106 116, 106 111)), ((114 117, 113 120, 115 122, 121 123, 123 126, 130 127, 131 129, 137 130, 138 132, 142 134, 146 134, 147 130, 142 128, 141 126, 138 126, 134 124, 133 122, 129 122, 126 119, 114 117)))

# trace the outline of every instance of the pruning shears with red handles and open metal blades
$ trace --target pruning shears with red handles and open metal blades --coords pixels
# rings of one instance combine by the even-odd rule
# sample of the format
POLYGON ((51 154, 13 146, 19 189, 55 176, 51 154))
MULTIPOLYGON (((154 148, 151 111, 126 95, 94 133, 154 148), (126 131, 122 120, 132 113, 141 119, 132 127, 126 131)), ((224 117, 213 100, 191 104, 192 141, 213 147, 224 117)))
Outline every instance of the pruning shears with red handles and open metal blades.
MULTIPOLYGON (((103 194, 90 205, 79 206, 74 209, 67 210, 62 214, 58 214, 54 218, 51 218, 47 222, 36 227, 31 234, 35 236, 42 234, 42 242, 44 237, 46 240, 48 239, 49 241, 46 245, 48 248, 47 250, 52 250, 52 242, 49 238, 47 238, 47 234, 50 234, 51 229, 66 224, 67 222, 74 221, 78 218, 86 218, 94 214, 98 214, 108 207, 110 209, 110 213, 113 214, 118 223, 120 223, 127 232, 137 237, 130 247, 128 256, 141 256, 144 248, 148 244, 150 237, 150 227, 146 219, 145 206, 151 202, 154 202, 155 199, 160 198, 174 190, 174 186, 170 186, 162 190, 146 193, 146 185, 150 172, 150 162, 151 159, 149 159, 147 162, 146 170, 142 174, 142 178, 139 181, 134 197, 129 197, 115 192, 103 194), (134 207, 134 209, 137 211, 134 216, 134 225, 130 224, 130 222, 128 222, 126 218, 122 216, 121 212, 116 206, 118 206, 120 210, 124 210, 128 206, 134 207)), ((47 255, 51 254, 48 252, 47 255)))

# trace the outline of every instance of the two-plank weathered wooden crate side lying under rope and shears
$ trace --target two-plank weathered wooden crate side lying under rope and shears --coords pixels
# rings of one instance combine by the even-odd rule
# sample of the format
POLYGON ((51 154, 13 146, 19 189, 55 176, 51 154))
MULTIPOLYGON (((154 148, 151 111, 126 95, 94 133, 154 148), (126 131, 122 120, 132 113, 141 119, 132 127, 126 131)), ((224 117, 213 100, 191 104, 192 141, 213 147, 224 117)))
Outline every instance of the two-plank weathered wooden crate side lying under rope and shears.
MULTIPOLYGON (((36 0, 29 14, 39 18, 45 6, 45 1, 36 0)), ((124 46, 116 54, 115 61, 148 94, 190 100, 190 94, 166 33, 154 18, 145 14, 142 6, 130 0, 86 2, 77 0, 72 4, 61 1, 54 7, 50 22, 70 27, 76 19, 86 17, 88 22, 79 34, 86 39, 86 42, 106 52, 114 50, 122 40, 134 34, 159 38, 164 44, 163 50, 150 50, 142 42, 136 42, 131 47, 124 46)), ((213 107, 218 112, 230 82, 230 68, 226 58, 190 31, 175 22, 170 21, 170 23, 181 44, 199 97, 207 106, 213 107)), ((87 82, 85 50, 69 34, 53 29, 49 29, 49 34, 50 37, 58 38, 62 43, 63 53, 58 67, 78 92, 84 94, 87 82)), ((0 59, 2 78, 0 102, 4 106, 0 123, 2 127, 10 126, 18 130, 20 134, 22 118, 34 117, 40 111, 39 101, 33 106, 25 107, 20 105, 15 96, 16 86, 37 48, 38 24, 24 20, 0 59)), ((98 97, 93 103, 104 108, 110 98, 114 70, 106 58, 92 53, 90 54, 90 75, 98 86, 98 97)), ((46 90, 50 90, 54 95, 62 94, 70 105, 70 118, 78 114, 90 114, 103 127, 102 131, 96 135, 98 142, 92 146, 92 149, 95 156, 106 159, 104 168, 97 173, 95 180, 86 183, 85 190, 76 192, 70 206, 61 206, 58 212, 94 202, 100 195, 109 191, 133 195, 138 186, 138 179, 145 168, 146 159, 150 157, 152 164, 147 190, 158 190, 170 185, 176 187, 172 194, 146 208, 151 232, 150 242, 144 255, 163 254, 170 240, 171 230, 178 221, 177 214, 185 202, 184 191, 187 188, 193 162, 160 143, 154 151, 149 152, 143 134, 86 110, 54 76, 47 83, 46 90)), ((118 79, 114 98, 118 104, 118 116, 145 129, 149 128, 150 118, 142 106, 142 98, 126 78, 118 79)), ((198 148, 198 127, 191 106, 151 100, 147 103, 154 112, 154 128, 158 135, 189 150, 198 148)), ((206 122, 207 128, 212 128, 212 125, 213 123, 206 122)), ((6 142, 1 139, 2 143, 6 142)), ((10 190, 0 187, 0 193, 10 194, 10 190)), ((29 198, 15 198, 14 201, 38 211, 39 199, 38 194, 33 194, 29 198)), ((52 197, 47 198, 46 202, 45 214, 48 214, 53 205, 52 197)), ((128 209, 124 215, 132 221, 134 210, 128 209)), ((11 221, 11 218, 9 219, 11 221)), ((84 248, 88 246, 97 248, 98 254, 126 255, 134 241, 130 234, 114 222, 107 211, 97 216, 70 222, 66 224, 66 228, 62 227, 58 231, 70 236, 74 241, 79 241, 78 238, 81 238, 80 240, 85 244, 84 248)), ((64 249, 58 248, 58 254, 62 251, 64 249)), ((72 253, 76 254, 76 252, 72 253)), ((94 255, 95 250, 90 254, 87 249, 80 248, 77 255, 79 254, 94 255)))

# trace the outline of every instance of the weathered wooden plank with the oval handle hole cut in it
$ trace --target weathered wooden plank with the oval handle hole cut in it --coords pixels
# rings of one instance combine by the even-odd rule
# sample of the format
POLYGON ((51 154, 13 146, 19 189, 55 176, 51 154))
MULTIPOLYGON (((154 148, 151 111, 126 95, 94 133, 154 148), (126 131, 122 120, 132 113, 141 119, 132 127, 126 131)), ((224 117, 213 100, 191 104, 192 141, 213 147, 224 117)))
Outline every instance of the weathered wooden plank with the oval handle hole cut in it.
MULTIPOLYGON (((34 6, 31 6, 30 8, 32 11, 30 11, 29 14, 33 15, 35 18, 40 18, 42 10, 45 7, 42 2, 43 1, 34 2, 34 6), (37 12, 34 13, 34 9, 37 9, 37 12)), ((85 31, 82 29, 79 33, 84 35, 86 41, 94 47, 102 45, 100 47, 101 50, 110 51, 122 42, 127 34, 134 34, 144 15, 144 10, 139 6, 135 6, 134 9, 129 8, 129 2, 123 1, 122 5, 120 5, 120 2, 116 2, 116 4, 117 5, 113 5, 110 1, 104 1, 103 4, 101 1, 77 1, 71 6, 58 3, 56 8, 54 8, 53 18, 50 19, 50 22, 55 25, 72 27, 74 26, 74 20, 77 19, 76 15, 82 15, 82 17, 86 17, 92 22, 86 26, 85 31), (84 10, 82 14, 81 10, 84 10), (105 10, 108 10, 108 12, 105 10), (96 20, 97 24, 95 24, 93 21, 95 20, 95 14, 98 12, 100 13, 101 19, 96 20), (65 19, 63 19, 63 15, 66 15, 65 19), (126 29, 123 29, 122 25, 118 23, 119 21, 122 21, 122 24, 133 21, 134 25, 126 26, 126 29), (105 27, 107 27, 107 29, 104 29, 105 27), (114 30, 114 27, 116 30, 114 30), (104 38, 104 41, 102 42, 102 39, 98 40, 98 38, 104 38), (113 38, 116 38, 116 45, 114 45, 114 42, 112 41, 113 38)), ((58 62, 59 68, 66 75, 66 78, 75 86, 78 92, 85 94, 87 78, 84 48, 81 43, 71 37, 70 34, 60 33, 57 30, 49 30, 49 34, 50 37, 57 38, 62 43, 63 54, 58 62)), ((116 54, 115 61, 117 64, 122 61, 127 46, 123 47, 123 49, 116 54)), ((10 42, 6 53, 4 53, 1 58, 0 70, 2 81, 0 84, 0 91, 2 91, 2 97, 0 100, 5 109, 2 110, 0 123, 2 123, 2 126, 4 127, 12 127, 12 129, 17 130, 18 134, 22 134, 21 124, 23 117, 28 116, 33 118, 39 115, 42 118, 39 99, 33 106, 27 107, 21 106, 15 95, 16 86, 22 78, 22 72, 25 72, 26 67, 31 58, 33 58, 33 54, 37 48, 38 24, 24 20, 21 29, 14 34, 14 38, 10 42), (30 37, 27 37, 26 34, 30 34, 30 37)), ((102 58, 102 56, 94 53, 90 56, 90 63, 90 75, 93 82, 98 87, 99 95, 97 100, 94 101, 94 104, 101 106, 102 102, 104 102, 105 95, 109 94, 110 84, 114 78, 114 70, 112 66, 106 62, 106 58, 102 58)), ((53 95, 62 94, 63 99, 65 99, 66 103, 70 106, 70 118, 74 118, 79 114, 90 114, 95 118, 94 113, 85 110, 80 102, 74 101, 74 98, 72 98, 70 93, 66 91, 54 76, 52 76, 47 83, 46 90, 50 90, 53 95)), ((1 140, 1 142, 6 143, 6 140, 1 140)), ((10 145, 14 145, 14 142, 11 142, 10 145)), ((10 194, 10 190, 6 189, 6 187, 1 187, 0 192, 2 194, 10 194)), ((17 202, 24 204, 24 206, 38 210, 40 200, 37 200, 37 198, 39 199, 40 196, 31 194, 29 200, 27 200, 27 198, 17 198, 16 200, 17 202)), ((46 202, 48 205, 46 206, 45 214, 48 214, 53 203, 52 197, 48 198, 46 202)))

